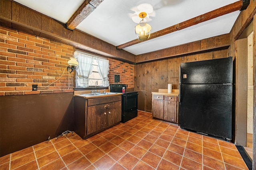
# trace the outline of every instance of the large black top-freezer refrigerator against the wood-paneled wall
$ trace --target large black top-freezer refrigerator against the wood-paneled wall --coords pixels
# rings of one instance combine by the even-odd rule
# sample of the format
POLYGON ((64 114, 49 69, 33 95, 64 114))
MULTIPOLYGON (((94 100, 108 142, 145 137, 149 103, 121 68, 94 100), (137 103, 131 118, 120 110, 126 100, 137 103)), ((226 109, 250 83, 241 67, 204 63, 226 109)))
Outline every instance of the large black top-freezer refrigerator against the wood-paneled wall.
POLYGON ((232 140, 232 57, 180 64, 182 129, 232 140))

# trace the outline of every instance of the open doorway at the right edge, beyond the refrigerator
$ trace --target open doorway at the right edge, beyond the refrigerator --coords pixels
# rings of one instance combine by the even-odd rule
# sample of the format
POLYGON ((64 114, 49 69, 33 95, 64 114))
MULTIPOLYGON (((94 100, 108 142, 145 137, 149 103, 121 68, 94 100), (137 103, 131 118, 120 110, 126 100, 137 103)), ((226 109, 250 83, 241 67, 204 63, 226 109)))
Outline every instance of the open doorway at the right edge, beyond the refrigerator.
POLYGON ((253 148, 253 22, 240 35, 236 65, 236 145, 244 147, 252 158, 253 148))

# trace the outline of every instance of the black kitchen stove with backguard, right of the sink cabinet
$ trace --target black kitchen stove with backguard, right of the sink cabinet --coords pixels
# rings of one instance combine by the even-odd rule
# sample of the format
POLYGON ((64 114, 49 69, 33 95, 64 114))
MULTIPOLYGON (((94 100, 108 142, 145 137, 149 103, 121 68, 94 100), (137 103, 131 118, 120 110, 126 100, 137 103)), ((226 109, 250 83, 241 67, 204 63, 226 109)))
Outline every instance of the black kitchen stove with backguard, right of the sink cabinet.
POLYGON ((110 92, 122 93, 122 123, 138 116, 138 92, 126 92, 126 88, 126 84, 110 84, 110 92))

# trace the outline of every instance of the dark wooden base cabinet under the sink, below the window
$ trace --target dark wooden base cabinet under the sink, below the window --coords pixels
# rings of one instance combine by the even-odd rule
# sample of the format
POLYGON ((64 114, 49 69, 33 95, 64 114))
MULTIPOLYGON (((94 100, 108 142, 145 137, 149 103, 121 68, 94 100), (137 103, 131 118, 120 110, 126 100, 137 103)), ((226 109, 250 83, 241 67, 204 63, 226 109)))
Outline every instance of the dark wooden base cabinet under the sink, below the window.
POLYGON ((75 96, 75 129, 83 139, 104 131, 121 121, 122 97, 85 99, 75 96), (84 101, 81 102, 80 100, 84 101), (81 106, 84 103, 84 106, 81 106), (83 109, 84 108, 84 109, 83 109), (81 121, 81 119, 84 121, 81 121))

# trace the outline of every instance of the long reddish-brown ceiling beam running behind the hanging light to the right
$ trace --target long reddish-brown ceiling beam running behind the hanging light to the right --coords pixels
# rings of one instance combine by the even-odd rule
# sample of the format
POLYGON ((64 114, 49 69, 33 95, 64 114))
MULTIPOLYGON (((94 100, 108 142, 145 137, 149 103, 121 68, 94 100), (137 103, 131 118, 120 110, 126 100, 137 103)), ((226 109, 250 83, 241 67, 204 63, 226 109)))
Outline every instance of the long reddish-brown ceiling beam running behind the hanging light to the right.
MULTIPOLYGON (((172 26, 167 27, 165 29, 162 29, 160 31, 156 31, 154 33, 151 33, 150 37, 147 40, 154 39, 156 37, 160 37, 162 35, 166 35, 166 34, 169 34, 169 33, 172 33, 172 32, 187 28, 187 27, 191 27, 191 26, 196 25, 198 23, 202 23, 204 21, 208 21, 208 20, 211 20, 213 18, 217 18, 219 16, 229 14, 231 12, 235 12, 237 10, 240 10, 242 8, 242 6, 243 6, 243 0, 234 2, 233 4, 223 6, 221 8, 218 8, 216 10, 207 12, 205 14, 202 14, 202 15, 197 16, 195 18, 192 18, 190 20, 186 20, 184 22, 178 23, 176 25, 172 25, 172 26)), ((147 40, 145 40, 145 41, 147 41, 147 40)), ((134 39, 134 40, 129 41, 127 43, 124 43, 122 45, 116 46, 116 49, 121 50, 121 49, 124 49, 126 47, 130 47, 132 45, 135 45, 135 44, 138 44, 138 43, 141 43, 141 42, 143 42, 143 41, 140 41, 138 39, 134 39)))

